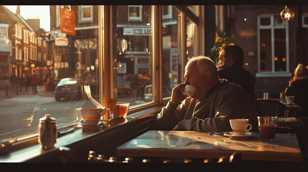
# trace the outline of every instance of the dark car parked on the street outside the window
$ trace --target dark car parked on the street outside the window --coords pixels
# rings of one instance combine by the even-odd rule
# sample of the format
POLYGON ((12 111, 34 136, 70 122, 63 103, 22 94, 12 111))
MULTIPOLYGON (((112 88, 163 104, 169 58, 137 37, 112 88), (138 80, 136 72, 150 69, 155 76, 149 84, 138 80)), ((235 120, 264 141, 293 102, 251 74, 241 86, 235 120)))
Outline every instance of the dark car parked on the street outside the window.
POLYGON ((61 98, 81 99, 82 85, 78 78, 62 78, 55 88, 56 101, 60 101, 61 98))

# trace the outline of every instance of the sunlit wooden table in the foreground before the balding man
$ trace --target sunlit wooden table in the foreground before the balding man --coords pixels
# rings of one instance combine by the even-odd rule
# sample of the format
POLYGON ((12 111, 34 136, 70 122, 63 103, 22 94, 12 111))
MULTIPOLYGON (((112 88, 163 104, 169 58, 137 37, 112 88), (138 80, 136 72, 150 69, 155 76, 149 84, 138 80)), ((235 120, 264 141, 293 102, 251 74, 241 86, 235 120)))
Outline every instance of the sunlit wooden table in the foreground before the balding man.
POLYGON ((219 158, 241 152, 242 160, 303 162, 295 134, 276 134, 273 143, 261 142, 259 133, 235 140, 213 134, 150 130, 116 148, 117 156, 219 158))

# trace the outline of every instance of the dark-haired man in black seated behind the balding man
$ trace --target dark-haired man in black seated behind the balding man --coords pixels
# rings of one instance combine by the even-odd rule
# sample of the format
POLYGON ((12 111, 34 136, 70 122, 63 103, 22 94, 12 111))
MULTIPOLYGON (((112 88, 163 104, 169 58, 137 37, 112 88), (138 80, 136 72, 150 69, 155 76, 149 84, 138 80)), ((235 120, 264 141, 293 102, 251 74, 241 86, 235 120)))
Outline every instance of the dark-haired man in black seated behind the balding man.
POLYGON ((219 48, 218 74, 230 82, 241 86, 251 99, 256 100, 255 78, 243 68, 244 52, 239 46, 230 44, 219 48))

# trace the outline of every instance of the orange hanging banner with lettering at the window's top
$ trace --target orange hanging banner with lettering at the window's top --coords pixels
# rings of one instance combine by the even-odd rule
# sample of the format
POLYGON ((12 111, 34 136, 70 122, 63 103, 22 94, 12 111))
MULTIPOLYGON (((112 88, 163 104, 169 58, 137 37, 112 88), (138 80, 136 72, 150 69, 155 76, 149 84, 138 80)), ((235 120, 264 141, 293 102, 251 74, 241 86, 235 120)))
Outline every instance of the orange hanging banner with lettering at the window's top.
POLYGON ((75 12, 59 7, 61 33, 75 36, 75 12))

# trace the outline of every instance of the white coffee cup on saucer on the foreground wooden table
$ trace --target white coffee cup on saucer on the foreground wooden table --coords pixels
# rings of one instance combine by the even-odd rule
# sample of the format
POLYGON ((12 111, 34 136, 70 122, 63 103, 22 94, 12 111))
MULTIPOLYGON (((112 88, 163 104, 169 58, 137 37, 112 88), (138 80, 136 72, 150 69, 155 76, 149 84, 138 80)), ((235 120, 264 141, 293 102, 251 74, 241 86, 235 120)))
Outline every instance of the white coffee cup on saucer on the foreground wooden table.
POLYGON ((249 123, 248 119, 231 119, 230 125, 235 135, 245 135, 246 131, 252 129, 252 125, 249 123), (248 126, 250 126, 248 128, 248 126))

